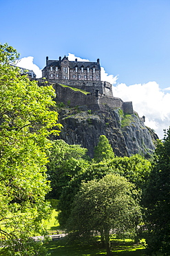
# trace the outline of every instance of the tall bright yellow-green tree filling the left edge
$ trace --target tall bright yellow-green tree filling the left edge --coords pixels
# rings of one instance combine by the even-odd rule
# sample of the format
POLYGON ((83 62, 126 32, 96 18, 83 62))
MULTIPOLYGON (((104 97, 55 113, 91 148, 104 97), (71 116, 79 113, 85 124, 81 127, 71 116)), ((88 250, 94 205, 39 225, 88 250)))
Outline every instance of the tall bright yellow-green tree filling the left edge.
POLYGON ((17 57, 14 48, 0 44, 0 233, 6 237, 1 250, 3 255, 46 255, 30 237, 45 231, 42 219, 50 212, 45 152, 48 137, 59 134, 61 125, 51 110, 54 89, 21 76, 10 65, 17 57))

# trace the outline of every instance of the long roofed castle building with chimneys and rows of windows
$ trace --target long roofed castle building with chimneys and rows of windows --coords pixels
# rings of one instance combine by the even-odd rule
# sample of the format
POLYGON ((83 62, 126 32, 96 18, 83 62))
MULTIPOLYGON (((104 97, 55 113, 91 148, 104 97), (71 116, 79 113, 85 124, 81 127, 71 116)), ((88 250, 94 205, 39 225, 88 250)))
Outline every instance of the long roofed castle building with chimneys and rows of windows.
POLYGON ((43 68, 42 76, 47 80, 81 80, 100 81, 100 62, 78 62, 59 57, 59 60, 48 60, 43 68))

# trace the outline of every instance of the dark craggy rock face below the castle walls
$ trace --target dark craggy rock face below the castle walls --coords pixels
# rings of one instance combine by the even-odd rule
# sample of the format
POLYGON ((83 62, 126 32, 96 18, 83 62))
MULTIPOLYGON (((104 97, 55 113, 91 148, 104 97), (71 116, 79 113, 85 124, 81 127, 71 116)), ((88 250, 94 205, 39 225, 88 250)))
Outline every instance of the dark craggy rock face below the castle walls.
POLYGON ((100 135, 105 135, 116 156, 141 154, 149 157, 156 141, 156 134, 145 127, 138 114, 123 116, 120 109, 105 107, 105 111, 80 109, 62 109, 59 111, 59 122, 63 129, 60 138, 68 144, 79 144, 88 149, 93 157, 94 147, 100 135))

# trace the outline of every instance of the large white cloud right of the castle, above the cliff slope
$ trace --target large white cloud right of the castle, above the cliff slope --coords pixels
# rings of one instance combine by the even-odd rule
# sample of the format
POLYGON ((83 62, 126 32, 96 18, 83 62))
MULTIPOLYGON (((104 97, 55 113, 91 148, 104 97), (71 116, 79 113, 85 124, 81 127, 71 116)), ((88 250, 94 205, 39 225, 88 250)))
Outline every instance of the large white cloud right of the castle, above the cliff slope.
POLYGON ((123 101, 132 101, 134 111, 145 116, 145 125, 154 129, 159 138, 163 138, 164 129, 170 125, 170 93, 160 89, 156 82, 147 84, 118 84, 113 86, 115 97, 123 101))

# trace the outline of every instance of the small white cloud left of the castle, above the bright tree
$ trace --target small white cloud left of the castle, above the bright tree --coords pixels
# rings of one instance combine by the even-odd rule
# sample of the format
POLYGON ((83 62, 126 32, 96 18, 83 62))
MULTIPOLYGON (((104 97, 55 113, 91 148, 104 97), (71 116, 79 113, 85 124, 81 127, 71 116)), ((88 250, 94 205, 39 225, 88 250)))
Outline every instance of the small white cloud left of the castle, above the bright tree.
POLYGON ((28 68, 36 74, 36 78, 42 77, 42 72, 39 66, 36 66, 36 64, 33 63, 34 57, 23 57, 21 58, 15 65, 19 66, 21 68, 28 68))

